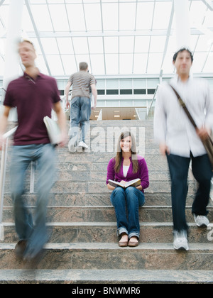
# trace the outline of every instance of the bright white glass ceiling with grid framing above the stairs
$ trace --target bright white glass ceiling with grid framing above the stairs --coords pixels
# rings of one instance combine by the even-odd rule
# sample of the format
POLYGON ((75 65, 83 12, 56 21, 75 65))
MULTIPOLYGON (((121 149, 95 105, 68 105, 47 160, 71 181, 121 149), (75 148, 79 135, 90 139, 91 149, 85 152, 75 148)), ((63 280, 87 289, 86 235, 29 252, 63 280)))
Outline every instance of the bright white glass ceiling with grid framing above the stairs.
MULTIPOLYGON (((212 73, 212 2, 188 1, 193 72, 199 74, 212 73)), ((2 76, 9 0, 0 5, 2 76)), ((26 0, 22 30, 35 44, 40 71, 55 77, 76 72, 81 61, 96 76, 174 72, 173 0, 26 0)))

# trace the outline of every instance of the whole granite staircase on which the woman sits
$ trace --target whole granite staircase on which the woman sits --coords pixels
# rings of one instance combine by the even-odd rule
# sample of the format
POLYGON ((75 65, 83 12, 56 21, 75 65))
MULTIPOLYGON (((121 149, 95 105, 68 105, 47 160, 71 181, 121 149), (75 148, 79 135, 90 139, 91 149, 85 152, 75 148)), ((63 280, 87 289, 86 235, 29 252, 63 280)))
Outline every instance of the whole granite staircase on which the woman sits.
MULTIPOLYGON (((191 204, 196 182, 191 174, 186 209, 190 250, 173 249, 170 179, 167 162, 153 143, 152 121, 91 121, 89 135, 89 152, 58 149, 58 178, 48 206, 50 240, 36 267, 14 255, 17 236, 8 167, 0 283, 212 283, 213 232, 197 228, 193 221, 191 204), (112 131, 124 127, 133 129, 150 176, 146 204, 139 210, 141 238, 136 248, 119 248, 116 216, 106 185, 107 165, 114 156, 112 131)), ((33 211, 35 194, 29 193, 29 180, 27 175, 25 196, 33 211)), ((213 222, 211 203, 209 220, 213 222)))

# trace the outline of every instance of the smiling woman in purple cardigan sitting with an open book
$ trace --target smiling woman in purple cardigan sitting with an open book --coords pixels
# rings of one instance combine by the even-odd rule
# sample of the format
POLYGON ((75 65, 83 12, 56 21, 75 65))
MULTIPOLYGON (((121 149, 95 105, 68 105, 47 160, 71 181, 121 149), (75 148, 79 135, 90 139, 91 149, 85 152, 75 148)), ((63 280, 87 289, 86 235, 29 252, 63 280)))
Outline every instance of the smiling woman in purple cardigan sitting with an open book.
POLYGON ((119 246, 137 246, 140 236, 138 216, 139 206, 145 203, 144 189, 149 185, 146 161, 136 154, 136 141, 131 133, 121 133, 115 158, 109 160, 107 167, 107 187, 113 190, 111 203, 114 205, 117 219, 119 246), (141 179, 138 187, 113 187, 109 180, 126 183, 141 179), (126 216, 126 207, 128 217, 126 216))

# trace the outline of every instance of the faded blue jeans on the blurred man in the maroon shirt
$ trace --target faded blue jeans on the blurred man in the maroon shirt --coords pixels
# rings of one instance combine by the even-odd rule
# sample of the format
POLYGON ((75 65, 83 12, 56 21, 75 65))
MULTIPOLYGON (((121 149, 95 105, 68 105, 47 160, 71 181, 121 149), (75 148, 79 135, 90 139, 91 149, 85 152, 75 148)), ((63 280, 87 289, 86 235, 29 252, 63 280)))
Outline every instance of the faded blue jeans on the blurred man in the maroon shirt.
POLYGON ((16 232, 20 240, 28 240, 26 253, 37 255, 48 240, 45 217, 48 194, 55 175, 55 149, 51 144, 13 146, 11 160, 11 195, 14 206, 16 232), (24 179, 31 161, 37 162, 39 172, 35 219, 23 199, 24 179))

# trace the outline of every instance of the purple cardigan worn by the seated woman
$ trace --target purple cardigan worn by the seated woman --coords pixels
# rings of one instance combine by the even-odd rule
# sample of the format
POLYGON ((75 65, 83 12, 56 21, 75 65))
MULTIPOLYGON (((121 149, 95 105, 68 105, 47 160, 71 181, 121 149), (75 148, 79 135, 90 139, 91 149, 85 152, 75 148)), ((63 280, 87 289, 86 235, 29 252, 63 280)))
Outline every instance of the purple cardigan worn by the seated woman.
MULTIPOLYGON (((124 177, 124 172, 123 172, 123 163, 124 163, 124 158, 122 160, 121 163, 121 169, 119 171, 119 173, 116 173, 114 170, 114 165, 115 165, 115 160, 114 158, 111 158, 111 160, 109 160, 109 164, 107 166, 107 184, 108 184, 108 180, 115 180, 118 182, 121 182, 122 180, 124 181, 131 181, 137 178, 141 179, 141 186, 142 186, 142 192, 144 189, 146 189, 149 185, 149 180, 148 180, 148 167, 146 165, 146 161, 144 158, 142 158, 142 156, 137 155, 138 158, 138 172, 133 173, 133 164, 131 161, 131 164, 129 166, 129 170, 127 172, 126 177, 124 177)), ((131 158, 130 158, 131 160, 131 158)))

